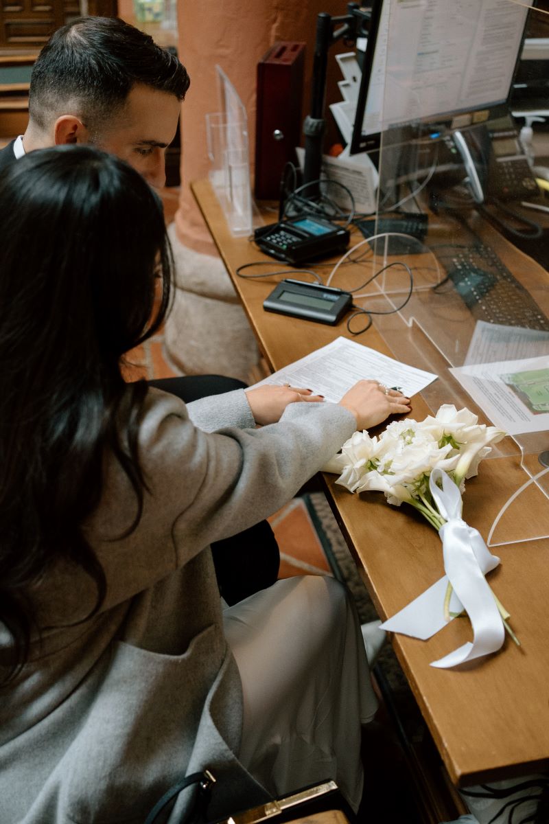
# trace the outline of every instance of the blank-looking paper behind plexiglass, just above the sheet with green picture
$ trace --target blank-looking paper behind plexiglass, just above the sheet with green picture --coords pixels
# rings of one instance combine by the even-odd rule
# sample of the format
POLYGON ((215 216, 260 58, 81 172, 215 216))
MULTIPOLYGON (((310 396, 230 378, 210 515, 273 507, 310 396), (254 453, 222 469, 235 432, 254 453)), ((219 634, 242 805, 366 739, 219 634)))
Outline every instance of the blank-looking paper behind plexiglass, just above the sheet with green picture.
POLYGON ((477 321, 464 366, 549 354, 549 332, 477 321))

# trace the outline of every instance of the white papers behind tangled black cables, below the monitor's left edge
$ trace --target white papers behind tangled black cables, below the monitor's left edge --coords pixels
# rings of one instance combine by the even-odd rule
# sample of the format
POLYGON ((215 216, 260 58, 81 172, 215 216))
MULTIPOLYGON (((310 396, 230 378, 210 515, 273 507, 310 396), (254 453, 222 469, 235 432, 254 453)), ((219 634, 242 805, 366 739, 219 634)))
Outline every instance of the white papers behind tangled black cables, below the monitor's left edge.
MULTIPOLYGON (((298 146, 295 148, 295 152, 303 169, 305 149, 298 146)), ((375 212, 375 192, 379 176, 369 157, 366 155, 364 157, 361 155, 353 157, 361 157, 361 160, 352 158, 340 160, 338 157, 323 155, 322 175, 328 180, 336 180, 337 183, 342 183, 347 187, 355 200, 356 212, 371 214, 375 212)), ((348 194, 339 186, 330 186, 328 194, 342 208, 350 207, 348 194)))

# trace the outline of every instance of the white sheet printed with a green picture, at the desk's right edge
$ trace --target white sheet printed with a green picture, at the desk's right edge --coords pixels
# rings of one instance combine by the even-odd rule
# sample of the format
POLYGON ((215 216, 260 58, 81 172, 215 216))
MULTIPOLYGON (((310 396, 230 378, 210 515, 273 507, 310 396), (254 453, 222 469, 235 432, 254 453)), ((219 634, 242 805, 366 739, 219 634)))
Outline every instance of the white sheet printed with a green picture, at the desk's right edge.
POLYGON ((492 424, 509 435, 549 429, 549 354, 451 368, 492 424))

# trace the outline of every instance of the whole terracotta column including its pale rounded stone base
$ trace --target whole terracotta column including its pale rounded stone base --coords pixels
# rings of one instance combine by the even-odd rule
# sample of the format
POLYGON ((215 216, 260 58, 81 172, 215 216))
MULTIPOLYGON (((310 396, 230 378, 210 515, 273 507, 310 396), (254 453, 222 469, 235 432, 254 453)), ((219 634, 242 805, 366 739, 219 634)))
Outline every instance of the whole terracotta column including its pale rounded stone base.
MULTIPOLYGON (((219 110, 216 64, 243 102, 254 161, 258 61, 277 40, 307 44, 304 115, 309 111, 316 17, 345 13, 343 0, 179 0, 179 59, 191 77, 181 115, 181 189, 170 226, 175 258, 174 304, 165 348, 182 372, 221 372, 254 382, 260 376, 254 334, 189 189, 207 177, 206 120, 219 110)), ((333 60, 335 73, 337 66, 333 60)))

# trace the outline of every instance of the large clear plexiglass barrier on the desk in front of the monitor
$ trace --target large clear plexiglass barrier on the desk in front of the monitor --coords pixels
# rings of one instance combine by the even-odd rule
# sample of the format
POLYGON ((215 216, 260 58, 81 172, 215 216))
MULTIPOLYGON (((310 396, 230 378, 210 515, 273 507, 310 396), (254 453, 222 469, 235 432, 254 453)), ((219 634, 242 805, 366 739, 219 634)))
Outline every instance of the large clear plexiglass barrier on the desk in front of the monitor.
POLYGON ((451 398, 509 433, 492 456, 522 472, 492 545, 549 536, 547 84, 536 102, 511 99, 523 35, 543 15, 514 0, 385 0, 381 18, 362 305, 395 357, 440 375, 423 393, 431 410, 451 398))

